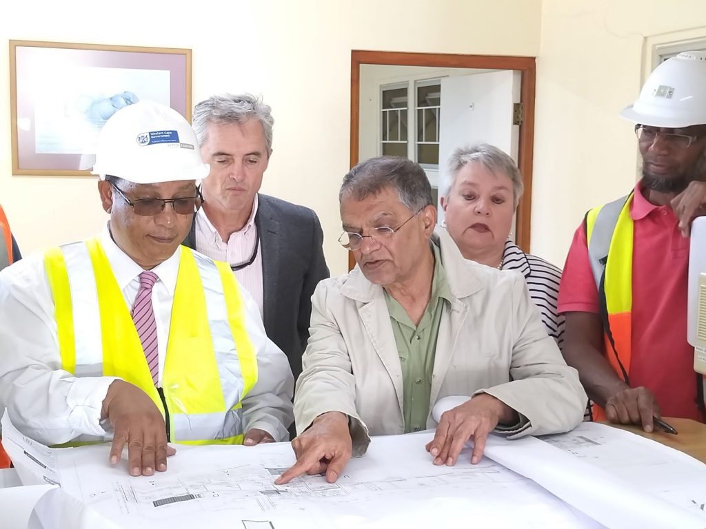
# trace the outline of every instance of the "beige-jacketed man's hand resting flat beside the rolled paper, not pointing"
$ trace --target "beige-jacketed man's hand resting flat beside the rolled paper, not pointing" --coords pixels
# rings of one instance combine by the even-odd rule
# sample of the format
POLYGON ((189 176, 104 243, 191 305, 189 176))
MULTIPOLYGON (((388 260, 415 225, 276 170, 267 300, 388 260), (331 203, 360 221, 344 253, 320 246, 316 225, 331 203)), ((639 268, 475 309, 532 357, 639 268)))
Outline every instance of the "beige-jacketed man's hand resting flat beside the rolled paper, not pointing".
POLYGON ((426 444, 435 465, 453 466, 463 445, 473 439, 471 463, 481 460, 488 434, 503 422, 511 422, 515 411, 503 401, 483 393, 441 415, 436 434, 426 444))

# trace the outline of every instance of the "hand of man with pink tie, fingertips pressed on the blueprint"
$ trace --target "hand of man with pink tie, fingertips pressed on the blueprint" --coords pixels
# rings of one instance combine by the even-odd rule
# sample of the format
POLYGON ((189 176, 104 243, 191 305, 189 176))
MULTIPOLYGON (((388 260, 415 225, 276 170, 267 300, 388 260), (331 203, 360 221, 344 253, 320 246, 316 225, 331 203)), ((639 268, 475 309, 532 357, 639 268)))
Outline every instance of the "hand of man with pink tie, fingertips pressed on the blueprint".
POLYGON ((131 475, 153 475, 155 468, 160 472, 167 470, 167 456, 173 456, 176 450, 167 446, 162 413, 144 391, 124 380, 115 380, 103 401, 102 418, 107 418, 114 430, 111 463, 120 461, 127 444, 131 475))

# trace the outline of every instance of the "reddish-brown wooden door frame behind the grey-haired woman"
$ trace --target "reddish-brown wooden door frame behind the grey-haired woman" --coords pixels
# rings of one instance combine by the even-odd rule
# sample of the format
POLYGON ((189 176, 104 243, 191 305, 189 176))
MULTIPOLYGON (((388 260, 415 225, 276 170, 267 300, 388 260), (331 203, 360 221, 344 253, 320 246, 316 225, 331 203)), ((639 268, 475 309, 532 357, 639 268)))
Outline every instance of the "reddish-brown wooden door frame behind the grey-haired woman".
MULTIPOLYGON (((406 53, 402 51, 351 51, 351 144, 350 165, 359 162, 359 114, 360 114, 360 65, 388 64, 390 66, 430 66, 436 68, 479 68, 488 70, 517 70, 522 73, 520 102, 524 116, 520 125, 520 141, 517 166, 522 174, 525 192, 517 205, 515 241, 525 251, 530 251, 530 222, 532 209, 532 162, 534 152, 534 91, 537 70, 534 57, 507 55, 460 55, 406 53)), ((348 267, 355 266, 353 254, 348 254, 348 267)))

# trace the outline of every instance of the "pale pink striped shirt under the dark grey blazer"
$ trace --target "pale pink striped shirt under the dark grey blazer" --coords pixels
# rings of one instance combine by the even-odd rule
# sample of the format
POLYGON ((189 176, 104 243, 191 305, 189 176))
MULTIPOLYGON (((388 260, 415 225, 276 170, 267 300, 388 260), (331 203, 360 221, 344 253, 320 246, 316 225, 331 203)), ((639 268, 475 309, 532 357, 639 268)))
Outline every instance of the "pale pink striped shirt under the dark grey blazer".
MULTIPOLYGON (((253 201, 253 212, 243 229, 231 233, 224 242, 206 217, 203 207, 196 213, 196 250, 208 255, 211 259, 227 262, 229 265, 240 265, 250 260, 257 241, 258 228, 255 225, 255 214, 258 212, 258 195, 253 201)), ((258 243, 258 254, 253 263, 234 272, 240 286, 253 297, 258 304, 260 317, 263 317, 263 260, 262 247, 258 243)))

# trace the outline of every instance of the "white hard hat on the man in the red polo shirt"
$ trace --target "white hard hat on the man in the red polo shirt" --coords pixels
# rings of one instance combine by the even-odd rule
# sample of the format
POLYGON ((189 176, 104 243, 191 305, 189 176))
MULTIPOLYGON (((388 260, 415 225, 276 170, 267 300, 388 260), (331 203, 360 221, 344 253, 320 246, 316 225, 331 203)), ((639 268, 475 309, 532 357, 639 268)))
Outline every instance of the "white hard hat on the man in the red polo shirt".
POLYGON ((654 68, 640 97, 620 114, 653 127, 706 123, 706 53, 685 51, 654 68))

